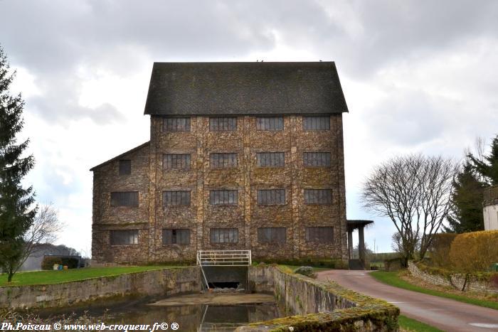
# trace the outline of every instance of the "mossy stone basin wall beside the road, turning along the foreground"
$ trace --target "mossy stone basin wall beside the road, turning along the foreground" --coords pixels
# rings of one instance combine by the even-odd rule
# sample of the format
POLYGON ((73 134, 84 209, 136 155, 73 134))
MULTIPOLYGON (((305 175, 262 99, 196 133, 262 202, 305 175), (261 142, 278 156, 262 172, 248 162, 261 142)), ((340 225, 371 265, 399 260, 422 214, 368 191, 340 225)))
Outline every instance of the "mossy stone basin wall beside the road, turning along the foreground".
POLYGON ((386 301, 349 291, 332 282, 276 267, 250 267, 249 287, 275 294, 285 314, 236 331, 397 331, 399 309, 386 301), (339 310, 340 309, 340 310, 339 310))

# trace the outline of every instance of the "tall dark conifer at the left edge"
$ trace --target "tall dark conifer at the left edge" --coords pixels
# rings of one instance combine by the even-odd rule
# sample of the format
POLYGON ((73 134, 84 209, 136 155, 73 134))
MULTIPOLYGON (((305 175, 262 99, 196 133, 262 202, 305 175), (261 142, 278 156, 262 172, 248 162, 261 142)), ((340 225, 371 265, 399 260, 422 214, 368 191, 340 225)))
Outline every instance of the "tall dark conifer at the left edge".
POLYGON ((33 168, 33 156, 23 156, 29 140, 17 142, 23 128, 24 101, 12 96, 9 87, 14 74, 0 46, 0 268, 8 280, 19 268, 24 248, 23 235, 33 224, 33 188, 23 188, 21 180, 33 168))

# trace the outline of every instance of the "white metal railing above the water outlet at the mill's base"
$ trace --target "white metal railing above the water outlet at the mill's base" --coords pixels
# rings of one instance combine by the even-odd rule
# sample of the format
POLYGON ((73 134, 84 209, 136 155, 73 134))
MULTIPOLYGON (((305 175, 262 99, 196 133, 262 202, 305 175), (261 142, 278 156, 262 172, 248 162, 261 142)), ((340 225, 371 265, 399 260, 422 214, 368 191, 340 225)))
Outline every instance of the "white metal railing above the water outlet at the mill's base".
POLYGON ((197 265, 201 267, 247 267, 252 263, 250 250, 198 250, 197 265))

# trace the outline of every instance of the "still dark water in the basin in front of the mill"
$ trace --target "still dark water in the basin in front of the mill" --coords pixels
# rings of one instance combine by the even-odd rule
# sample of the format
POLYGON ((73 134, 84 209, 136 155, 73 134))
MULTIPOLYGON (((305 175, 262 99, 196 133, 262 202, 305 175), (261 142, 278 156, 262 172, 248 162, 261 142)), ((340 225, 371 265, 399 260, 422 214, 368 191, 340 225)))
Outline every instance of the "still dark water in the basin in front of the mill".
MULTIPOLYGON (((135 306, 127 312, 110 311, 102 320, 106 324, 179 324, 177 331, 233 331, 247 323, 279 317, 275 304, 135 306)), ((168 328, 171 331, 171 328, 168 328)))

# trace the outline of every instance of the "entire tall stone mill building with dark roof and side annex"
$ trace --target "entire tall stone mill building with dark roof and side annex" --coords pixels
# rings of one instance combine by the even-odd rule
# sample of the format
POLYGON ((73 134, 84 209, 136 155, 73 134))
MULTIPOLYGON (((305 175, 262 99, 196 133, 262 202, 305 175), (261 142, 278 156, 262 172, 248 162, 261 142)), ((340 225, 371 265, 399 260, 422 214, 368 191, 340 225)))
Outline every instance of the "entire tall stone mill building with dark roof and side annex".
POLYGON ((95 166, 97 264, 348 259, 333 62, 154 63, 150 140, 95 166))

